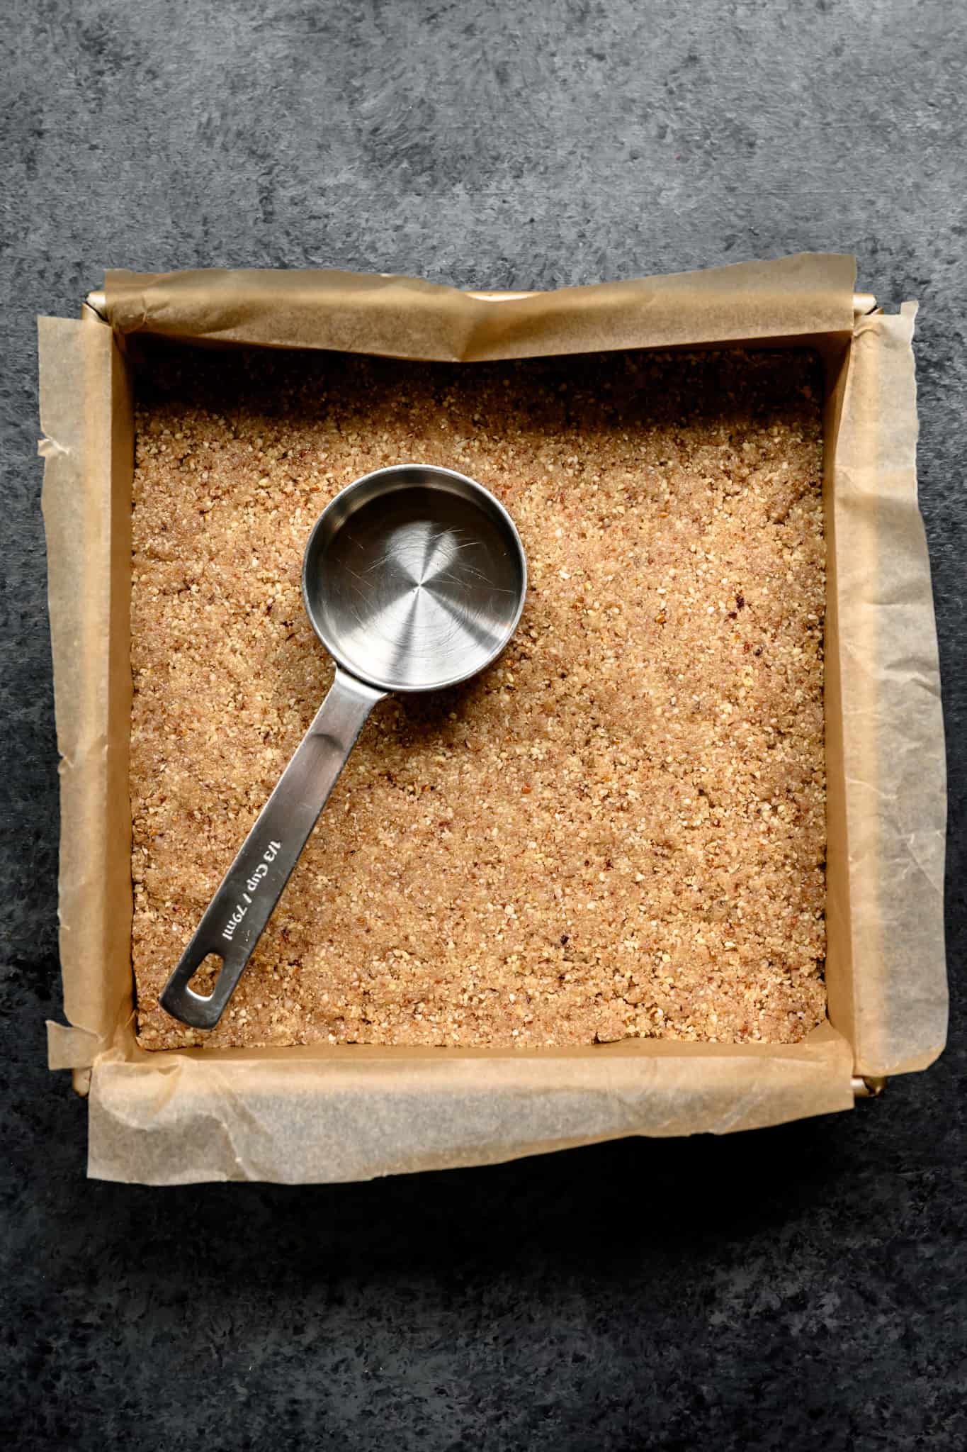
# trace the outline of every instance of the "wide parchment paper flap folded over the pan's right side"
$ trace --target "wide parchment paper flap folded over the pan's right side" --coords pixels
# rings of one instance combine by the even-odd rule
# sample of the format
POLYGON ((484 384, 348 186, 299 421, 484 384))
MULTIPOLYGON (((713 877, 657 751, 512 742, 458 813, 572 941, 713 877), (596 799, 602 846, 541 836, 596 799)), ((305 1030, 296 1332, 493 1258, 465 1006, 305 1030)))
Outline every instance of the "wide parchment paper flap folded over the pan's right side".
POLYGON ((937 626, 916 507, 913 318, 860 318, 826 498, 831 871, 826 926, 841 971, 829 1013, 857 1072, 925 1069, 947 1035, 947 765, 937 626), (841 865, 841 864, 839 864, 841 865))

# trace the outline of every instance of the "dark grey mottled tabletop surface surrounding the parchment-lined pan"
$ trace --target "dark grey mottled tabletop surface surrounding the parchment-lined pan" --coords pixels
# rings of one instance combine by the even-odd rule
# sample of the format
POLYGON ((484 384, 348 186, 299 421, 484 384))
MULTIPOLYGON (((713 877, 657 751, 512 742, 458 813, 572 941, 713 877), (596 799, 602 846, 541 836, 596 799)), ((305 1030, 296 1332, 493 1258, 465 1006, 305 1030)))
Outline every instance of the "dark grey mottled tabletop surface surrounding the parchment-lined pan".
POLYGON ((22 1448, 967 1443, 967 20, 950 0, 6 0, 0 1429, 22 1448), (36 312, 104 264, 552 287, 802 248, 919 298, 953 1047, 852 1115, 377 1185, 84 1180, 36 312))

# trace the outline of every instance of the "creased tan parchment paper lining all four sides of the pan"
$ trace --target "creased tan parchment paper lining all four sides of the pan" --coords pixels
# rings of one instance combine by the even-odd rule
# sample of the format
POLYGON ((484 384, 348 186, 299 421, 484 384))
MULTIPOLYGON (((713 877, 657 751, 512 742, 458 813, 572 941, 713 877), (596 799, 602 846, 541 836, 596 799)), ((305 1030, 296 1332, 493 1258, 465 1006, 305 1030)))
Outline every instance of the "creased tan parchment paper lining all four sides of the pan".
POLYGON ((851 1074, 944 1037, 942 727, 916 511, 912 317, 861 319, 854 264, 803 256, 486 299, 345 273, 112 273, 104 325, 42 319, 41 446, 62 762, 65 1016, 91 1072, 88 1172, 144 1183, 364 1179, 628 1134, 726 1133, 852 1105, 851 1074), (130 393, 125 334, 474 360, 796 343, 828 376, 831 1022, 794 1045, 507 1053, 144 1053, 132 1028, 130 393), (839 453, 842 441, 842 456, 839 453), (848 558, 841 558, 847 556, 848 558))

